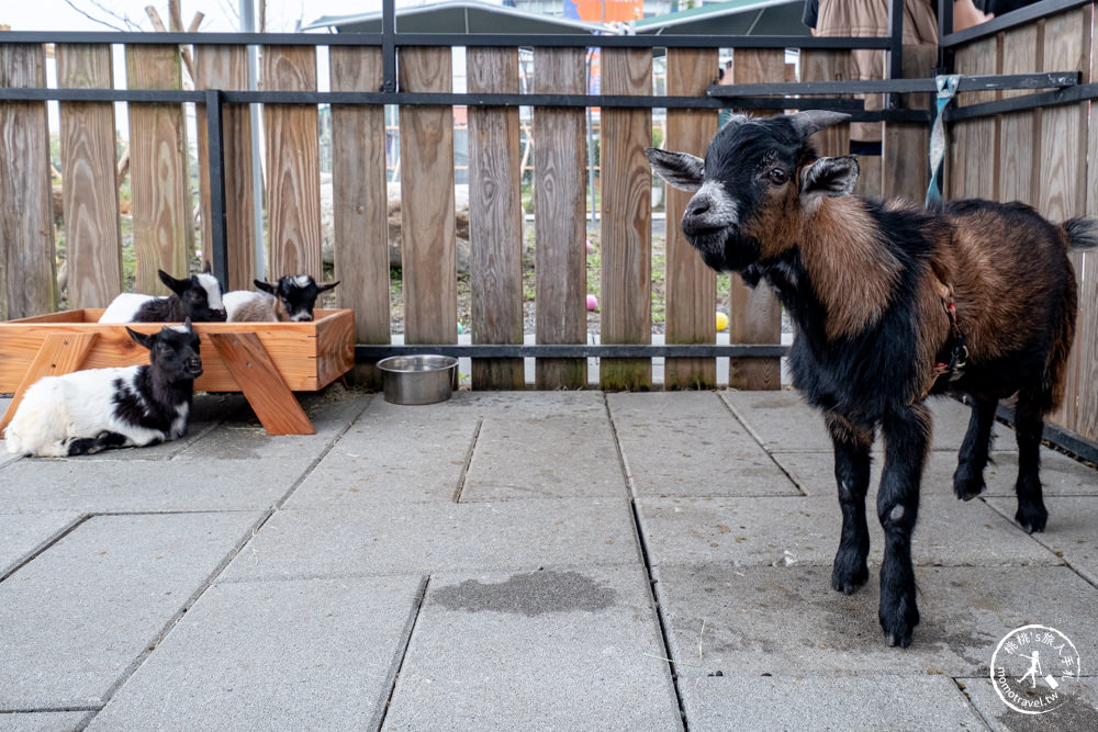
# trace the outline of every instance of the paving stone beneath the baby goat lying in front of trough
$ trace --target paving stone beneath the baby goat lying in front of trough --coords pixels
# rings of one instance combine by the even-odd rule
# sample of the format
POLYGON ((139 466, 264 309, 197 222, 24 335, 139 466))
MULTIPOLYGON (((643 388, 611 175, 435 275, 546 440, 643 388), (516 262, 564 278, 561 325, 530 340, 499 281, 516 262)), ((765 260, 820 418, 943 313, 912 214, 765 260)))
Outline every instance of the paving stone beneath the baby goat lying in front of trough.
POLYGON ((0 469, 0 511, 15 506, 89 514, 269 509, 363 406, 317 403, 311 415, 316 435, 271 436, 247 420, 222 424, 168 460, 145 460, 144 448, 112 450, 96 460, 20 460, 0 469))

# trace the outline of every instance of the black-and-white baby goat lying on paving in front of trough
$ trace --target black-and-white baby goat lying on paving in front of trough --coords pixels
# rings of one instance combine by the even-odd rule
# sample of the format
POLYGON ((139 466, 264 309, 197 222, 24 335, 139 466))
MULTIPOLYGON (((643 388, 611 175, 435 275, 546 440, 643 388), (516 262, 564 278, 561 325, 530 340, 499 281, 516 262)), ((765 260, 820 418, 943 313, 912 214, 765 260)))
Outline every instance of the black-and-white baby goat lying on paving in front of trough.
POLYGON ((88 369, 34 382, 8 427, 8 452, 82 455, 159 444, 187 432, 194 380, 202 375, 190 320, 153 335, 126 330, 148 349, 148 365, 88 369))

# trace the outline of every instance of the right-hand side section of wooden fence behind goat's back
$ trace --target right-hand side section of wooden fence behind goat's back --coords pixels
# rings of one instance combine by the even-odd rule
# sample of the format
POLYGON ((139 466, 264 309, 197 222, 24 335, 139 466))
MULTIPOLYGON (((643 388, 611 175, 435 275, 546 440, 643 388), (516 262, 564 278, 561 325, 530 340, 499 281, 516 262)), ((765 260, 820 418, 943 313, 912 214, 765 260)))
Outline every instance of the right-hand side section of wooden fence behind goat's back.
MULTIPOLYGON (((956 49, 959 74, 1078 70, 1094 83, 1095 5, 1007 29, 956 49)), ((961 108, 1026 92, 962 93, 961 108)), ((1053 221, 1098 216, 1098 105, 1057 104, 956 122, 949 129, 949 198, 1024 201, 1053 221)), ((1079 285, 1067 394, 1053 420, 1098 441, 1098 252, 1072 256, 1079 285)))

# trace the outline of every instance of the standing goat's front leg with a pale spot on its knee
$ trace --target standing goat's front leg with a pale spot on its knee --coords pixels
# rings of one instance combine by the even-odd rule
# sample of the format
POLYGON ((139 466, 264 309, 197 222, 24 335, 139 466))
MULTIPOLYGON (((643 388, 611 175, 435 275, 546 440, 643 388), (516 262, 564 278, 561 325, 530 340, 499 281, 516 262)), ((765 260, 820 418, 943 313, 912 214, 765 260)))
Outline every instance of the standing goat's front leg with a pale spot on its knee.
POLYGON ((919 482, 930 444, 930 412, 921 404, 888 414, 882 423, 885 465, 877 518, 885 533, 878 617, 888 645, 907 647, 919 624, 911 566, 911 533, 919 516, 919 482))

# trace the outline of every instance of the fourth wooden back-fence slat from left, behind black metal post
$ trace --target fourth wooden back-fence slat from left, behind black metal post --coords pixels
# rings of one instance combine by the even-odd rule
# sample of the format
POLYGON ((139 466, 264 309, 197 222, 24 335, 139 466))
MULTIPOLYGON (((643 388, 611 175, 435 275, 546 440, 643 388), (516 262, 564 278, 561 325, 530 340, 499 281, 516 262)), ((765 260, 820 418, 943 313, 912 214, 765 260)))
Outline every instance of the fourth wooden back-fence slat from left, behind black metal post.
MULTIPOLYGON (((197 89, 246 90, 248 49, 246 46, 195 46, 197 89)), ((202 203, 202 249, 212 255, 210 217, 210 140, 205 104, 195 104, 199 137, 199 184, 202 203)), ((255 203, 251 177, 251 110, 247 104, 222 105, 223 154, 225 158, 225 246, 231 290, 251 290, 259 272, 256 267, 255 203)), ((216 271, 216 262, 214 262, 216 271)), ((222 274, 222 272, 217 272, 222 274)))

